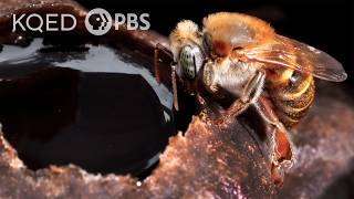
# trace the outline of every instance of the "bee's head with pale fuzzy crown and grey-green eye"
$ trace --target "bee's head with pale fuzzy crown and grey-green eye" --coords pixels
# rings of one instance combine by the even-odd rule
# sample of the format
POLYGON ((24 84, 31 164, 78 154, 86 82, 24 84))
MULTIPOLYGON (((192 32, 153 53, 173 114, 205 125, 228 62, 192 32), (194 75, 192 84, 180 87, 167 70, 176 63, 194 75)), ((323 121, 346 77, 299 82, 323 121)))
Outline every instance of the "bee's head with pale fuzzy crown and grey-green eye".
POLYGON ((181 80, 192 81, 205 61, 202 36, 196 23, 181 21, 169 35, 170 46, 176 62, 176 72, 181 80))

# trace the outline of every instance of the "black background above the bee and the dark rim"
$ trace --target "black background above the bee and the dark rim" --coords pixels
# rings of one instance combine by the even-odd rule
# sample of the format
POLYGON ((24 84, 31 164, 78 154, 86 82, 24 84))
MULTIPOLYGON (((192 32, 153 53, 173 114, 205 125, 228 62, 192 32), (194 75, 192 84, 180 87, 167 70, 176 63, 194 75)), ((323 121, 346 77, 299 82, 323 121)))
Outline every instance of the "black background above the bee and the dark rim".
POLYGON ((243 12, 259 17, 282 35, 323 50, 354 76, 354 3, 351 0, 79 0, 84 7, 110 12, 150 14, 152 29, 168 35, 183 19, 201 22, 208 13, 243 12))

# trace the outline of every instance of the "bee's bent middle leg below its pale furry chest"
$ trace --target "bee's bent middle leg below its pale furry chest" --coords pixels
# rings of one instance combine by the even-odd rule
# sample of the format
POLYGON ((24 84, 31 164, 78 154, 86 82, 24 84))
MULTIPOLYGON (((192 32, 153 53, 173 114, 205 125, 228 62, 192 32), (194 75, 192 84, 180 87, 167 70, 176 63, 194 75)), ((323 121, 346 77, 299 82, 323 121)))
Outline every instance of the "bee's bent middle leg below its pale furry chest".
POLYGON ((247 109, 263 91, 266 80, 264 71, 259 71, 244 86, 240 98, 236 100, 231 106, 222 114, 223 119, 230 119, 247 109))

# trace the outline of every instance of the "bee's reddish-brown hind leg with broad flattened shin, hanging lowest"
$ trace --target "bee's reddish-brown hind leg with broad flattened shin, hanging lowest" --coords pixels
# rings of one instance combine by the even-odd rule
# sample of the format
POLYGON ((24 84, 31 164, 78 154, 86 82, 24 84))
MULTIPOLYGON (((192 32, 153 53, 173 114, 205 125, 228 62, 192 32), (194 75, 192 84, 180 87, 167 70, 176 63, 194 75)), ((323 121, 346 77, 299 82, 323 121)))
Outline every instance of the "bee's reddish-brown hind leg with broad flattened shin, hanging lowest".
POLYGON ((270 143, 270 160, 272 163, 271 176, 277 185, 282 185, 284 172, 288 171, 295 161, 295 148, 291 137, 273 112, 271 102, 260 96, 254 103, 263 119, 271 124, 273 128, 268 132, 267 137, 270 143))

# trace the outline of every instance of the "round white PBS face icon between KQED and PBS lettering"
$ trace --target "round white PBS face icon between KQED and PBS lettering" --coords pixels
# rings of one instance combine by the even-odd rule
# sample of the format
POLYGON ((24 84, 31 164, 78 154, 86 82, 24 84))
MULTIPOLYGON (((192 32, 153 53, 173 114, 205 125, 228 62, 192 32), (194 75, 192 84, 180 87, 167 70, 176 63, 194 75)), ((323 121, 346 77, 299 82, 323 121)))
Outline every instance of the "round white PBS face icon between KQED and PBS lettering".
POLYGON ((86 14, 85 27, 90 33, 103 35, 112 28, 112 17, 104 9, 93 9, 86 14))

